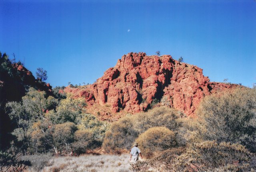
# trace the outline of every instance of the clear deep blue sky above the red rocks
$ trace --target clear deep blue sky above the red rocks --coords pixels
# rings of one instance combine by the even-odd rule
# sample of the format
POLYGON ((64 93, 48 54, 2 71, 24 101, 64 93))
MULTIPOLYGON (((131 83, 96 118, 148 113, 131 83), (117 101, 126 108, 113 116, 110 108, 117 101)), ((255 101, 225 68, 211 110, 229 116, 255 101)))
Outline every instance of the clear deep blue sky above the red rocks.
POLYGON ((47 70, 52 86, 91 84, 124 54, 160 51, 252 87, 256 1, 0 0, 0 51, 47 70))

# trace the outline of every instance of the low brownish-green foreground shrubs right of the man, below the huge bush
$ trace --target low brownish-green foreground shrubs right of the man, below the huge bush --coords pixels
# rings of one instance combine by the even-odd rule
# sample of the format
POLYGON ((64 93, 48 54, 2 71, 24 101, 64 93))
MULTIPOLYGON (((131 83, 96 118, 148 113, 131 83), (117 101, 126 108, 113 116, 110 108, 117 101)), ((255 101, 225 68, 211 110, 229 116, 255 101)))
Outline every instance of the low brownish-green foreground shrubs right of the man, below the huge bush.
POLYGON ((195 143, 192 147, 163 151, 160 155, 145 161, 144 164, 137 164, 137 169, 148 166, 155 170, 177 172, 249 171, 249 155, 250 152, 237 143, 204 141, 195 143))

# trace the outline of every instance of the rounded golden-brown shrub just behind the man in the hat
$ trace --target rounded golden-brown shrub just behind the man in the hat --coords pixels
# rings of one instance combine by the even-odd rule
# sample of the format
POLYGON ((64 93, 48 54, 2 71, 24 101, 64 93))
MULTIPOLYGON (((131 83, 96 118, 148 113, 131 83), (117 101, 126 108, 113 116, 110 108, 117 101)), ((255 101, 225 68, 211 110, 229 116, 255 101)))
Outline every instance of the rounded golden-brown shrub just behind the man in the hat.
POLYGON ((166 127, 153 127, 136 139, 142 154, 151 157, 176 145, 175 134, 166 127))

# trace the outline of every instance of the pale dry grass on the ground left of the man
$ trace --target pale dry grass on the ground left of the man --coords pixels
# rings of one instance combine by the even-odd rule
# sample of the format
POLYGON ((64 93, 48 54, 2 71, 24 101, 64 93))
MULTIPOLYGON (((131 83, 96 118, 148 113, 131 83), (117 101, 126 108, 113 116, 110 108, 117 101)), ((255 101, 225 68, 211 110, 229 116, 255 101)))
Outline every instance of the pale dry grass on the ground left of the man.
POLYGON ((130 172, 129 154, 62 156, 52 158, 49 164, 41 172, 130 172))

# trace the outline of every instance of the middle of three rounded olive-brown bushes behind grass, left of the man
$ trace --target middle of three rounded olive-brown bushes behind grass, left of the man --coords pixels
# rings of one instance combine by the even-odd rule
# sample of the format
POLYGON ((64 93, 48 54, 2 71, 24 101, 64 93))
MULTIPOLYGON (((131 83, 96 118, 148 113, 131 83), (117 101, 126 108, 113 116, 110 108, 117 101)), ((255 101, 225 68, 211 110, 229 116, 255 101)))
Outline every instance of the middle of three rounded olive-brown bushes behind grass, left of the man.
POLYGON ((61 124, 56 124, 54 132, 52 133, 54 146, 60 150, 60 155, 62 151, 70 149, 70 144, 74 142, 74 133, 77 127, 72 122, 66 122, 61 124))

